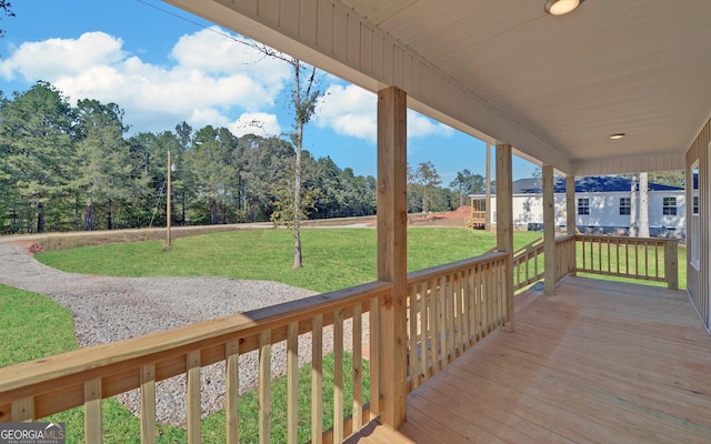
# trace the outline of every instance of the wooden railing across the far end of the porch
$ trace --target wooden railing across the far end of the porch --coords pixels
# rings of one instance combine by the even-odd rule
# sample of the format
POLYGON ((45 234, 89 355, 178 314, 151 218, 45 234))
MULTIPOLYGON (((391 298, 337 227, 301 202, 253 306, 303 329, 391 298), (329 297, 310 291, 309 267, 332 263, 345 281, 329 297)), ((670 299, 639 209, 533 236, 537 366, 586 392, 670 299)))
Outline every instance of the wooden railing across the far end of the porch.
POLYGON ((599 275, 667 282, 679 287, 677 239, 575 235, 577 271, 599 275))

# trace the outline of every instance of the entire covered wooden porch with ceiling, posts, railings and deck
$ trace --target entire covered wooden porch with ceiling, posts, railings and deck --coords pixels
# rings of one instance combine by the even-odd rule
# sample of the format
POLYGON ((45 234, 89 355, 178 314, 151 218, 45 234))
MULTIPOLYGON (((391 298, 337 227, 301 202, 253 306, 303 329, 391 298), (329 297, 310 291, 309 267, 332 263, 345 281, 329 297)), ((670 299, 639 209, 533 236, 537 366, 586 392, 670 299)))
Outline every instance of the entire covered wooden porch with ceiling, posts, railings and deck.
POLYGON ((561 21, 543 12, 543 1, 170 2, 378 93, 375 281, 0 369, 0 421, 82 405, 86 441, 100 443, 101 400, 140 389, 141 441, 154 443, 156 384, 184 375, 187 441, 200 443, 200 371, 224 362, 226 442, 238 443, 239 357, 256 352, 259 436, 269 443, 271 355, 281 344, 287 440, 296 443, 304 423, 296 408, 304 352, 298 339, 308 334, 311 442, 341 442, 352 432, 351 442, 373 443, 711 440, 707 2, 682 10, 669 2, 585 2, 561 21), (623 44, 600 48, 601 23, 605 37, 612 41, 618 31, 623 44), (568 44, 551 51, 558 42, 568 44), (408 108, 495 145, 497 252, 407 273, 408 108), (620 132, 629 137, 609 139, 620 132), (542 165, 544 206, 542 244, 515 258, 513 154, 542 165), (675 243, 632 239, 621 246, 572 231, 575 175, 660 170, 699 175, 687 282, 695 310, 675 290, 675 243), (558 240, 554 172, 568 183, 569 232, 558 240), (664 280, 669 289, 573 276, 583 271, 664 280), (514 299, 515 287, 540 279, 544 295, 514 299), (337 363, 347 359, 343 336, 353 339, 353 414, 348 418, 344 408, 349 375, 337 364, 331 430, 321 403, 324 327, 333 329, 337 363))

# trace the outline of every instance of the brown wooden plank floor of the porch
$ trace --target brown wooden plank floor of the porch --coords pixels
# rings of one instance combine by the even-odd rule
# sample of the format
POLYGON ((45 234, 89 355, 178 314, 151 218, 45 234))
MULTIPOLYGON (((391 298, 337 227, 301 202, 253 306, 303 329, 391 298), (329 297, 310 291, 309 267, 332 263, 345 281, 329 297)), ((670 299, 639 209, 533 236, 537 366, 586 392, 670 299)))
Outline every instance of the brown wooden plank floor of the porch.
MULTIPOLYGON (((711 337, 685 292, 567 278, 349 443, 711 443, 711 337)), ((525 306, 524 306, 525 305, 525 306)))

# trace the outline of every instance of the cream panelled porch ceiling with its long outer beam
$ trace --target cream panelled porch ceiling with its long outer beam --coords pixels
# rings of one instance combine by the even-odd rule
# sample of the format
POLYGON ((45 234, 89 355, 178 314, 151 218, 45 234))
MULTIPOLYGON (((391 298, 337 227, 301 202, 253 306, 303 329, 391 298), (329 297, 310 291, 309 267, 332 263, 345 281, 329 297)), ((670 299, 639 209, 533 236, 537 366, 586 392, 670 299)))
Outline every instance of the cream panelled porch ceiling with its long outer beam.
POLYGON ((705 0, 167 1, 564 174, 683 169, 711 115, 705 0))

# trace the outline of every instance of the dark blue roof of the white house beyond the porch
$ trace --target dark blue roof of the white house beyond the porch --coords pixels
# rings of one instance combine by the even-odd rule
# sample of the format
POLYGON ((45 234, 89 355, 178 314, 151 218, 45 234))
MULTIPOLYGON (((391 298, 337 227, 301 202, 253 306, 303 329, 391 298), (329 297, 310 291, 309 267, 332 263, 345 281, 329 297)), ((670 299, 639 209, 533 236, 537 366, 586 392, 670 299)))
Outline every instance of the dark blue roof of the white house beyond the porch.
MULTIPOLYGON (((554 183, 555 193, 565 192, 565 179, 558 179, 554 183)), ((629 192, 632 189, 632 181, 628 178, 617 175, 599 175, 575 179, 577 193, 609 193, 629 192)), ((542 180, 539 178, 519 179, 512 183, 513 194, 541 194, 543 192, 542 180)), ((683 191, 683 188, 663 185, 650 182, 649 191, 683 191)), ((492 193, 495 190, 492 190, 492 193)), ((473 193, 471 195, 482 196, 484 193, 473 193)))

